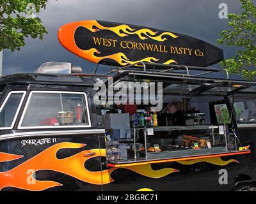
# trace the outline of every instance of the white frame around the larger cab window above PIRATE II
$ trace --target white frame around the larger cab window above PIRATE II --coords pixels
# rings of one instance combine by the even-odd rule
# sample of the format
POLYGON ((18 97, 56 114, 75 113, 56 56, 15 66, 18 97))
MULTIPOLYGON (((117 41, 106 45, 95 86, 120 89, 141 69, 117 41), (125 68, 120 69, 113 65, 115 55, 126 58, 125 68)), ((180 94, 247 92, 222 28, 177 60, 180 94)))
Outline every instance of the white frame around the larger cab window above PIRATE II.
POLYGON ((19 126, 18 129, 49 129, 49 128, 91 128, 91 118, 90 118, 90 112, 89 112, 89 106, 88 106, 88 98, 87 94, 85 92, 72 92, 72 91, 31 91, 29 93, 28 100, 26 102, 25 108, 22 112, 22 116, 20 118, 19 126), (24 119, 25 113, 28 109, 29 101, 31 99, 31 96, 33 93, 50 93, 50 94, 83 94, 85 98, 85 103, 86 103, 86 112, 87 112, 87 117, 88 117, 88 125, 83 125, 83 126, 21 126, 22 121, 24 119))

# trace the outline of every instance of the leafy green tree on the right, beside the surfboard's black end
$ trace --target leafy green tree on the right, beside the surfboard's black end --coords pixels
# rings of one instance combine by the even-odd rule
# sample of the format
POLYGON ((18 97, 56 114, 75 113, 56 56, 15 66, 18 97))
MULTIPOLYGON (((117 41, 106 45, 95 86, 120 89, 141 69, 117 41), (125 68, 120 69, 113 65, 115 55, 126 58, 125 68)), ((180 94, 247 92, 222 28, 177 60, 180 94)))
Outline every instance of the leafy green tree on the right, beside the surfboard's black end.
POLYGON ((228 14, 228 25, 232 29, 222 31, 218 43, 241 49, 222 61, 221 66, 229 73, 252 79, 256 77, 256 6, 252 0, 240 1, 242 12, 228 14))

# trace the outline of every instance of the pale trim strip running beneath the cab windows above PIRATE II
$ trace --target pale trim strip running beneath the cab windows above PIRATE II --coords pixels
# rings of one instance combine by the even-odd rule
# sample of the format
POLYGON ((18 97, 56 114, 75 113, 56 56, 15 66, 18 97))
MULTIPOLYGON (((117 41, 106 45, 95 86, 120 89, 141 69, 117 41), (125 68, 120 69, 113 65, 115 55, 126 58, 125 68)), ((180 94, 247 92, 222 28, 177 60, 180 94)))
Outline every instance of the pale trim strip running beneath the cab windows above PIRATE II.
POLYGON ((12 138, 22 138, 31 136, 47 136, 47 135, 82 135, 82 134, 97 134, 105 133, 105 129, 81 129, 81 130, 71 130, 71 131, 35 131, 35 132, 24 132, 24 133, 11 133, 7 135, 0 135, 1 140, 8 140, 12 138))

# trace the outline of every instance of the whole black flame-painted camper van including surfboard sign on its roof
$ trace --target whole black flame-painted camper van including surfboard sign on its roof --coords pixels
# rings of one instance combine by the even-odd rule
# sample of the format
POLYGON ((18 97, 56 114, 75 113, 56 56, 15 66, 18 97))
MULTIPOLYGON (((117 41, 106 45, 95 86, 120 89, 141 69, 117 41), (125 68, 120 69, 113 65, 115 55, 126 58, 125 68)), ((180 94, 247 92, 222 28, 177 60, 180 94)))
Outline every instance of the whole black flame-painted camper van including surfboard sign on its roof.
POLYGON ((95 73, 0 78, 1 191, 255 191, 256 82, 207 77, 223 50, 97 20, 58 38, 95 73))

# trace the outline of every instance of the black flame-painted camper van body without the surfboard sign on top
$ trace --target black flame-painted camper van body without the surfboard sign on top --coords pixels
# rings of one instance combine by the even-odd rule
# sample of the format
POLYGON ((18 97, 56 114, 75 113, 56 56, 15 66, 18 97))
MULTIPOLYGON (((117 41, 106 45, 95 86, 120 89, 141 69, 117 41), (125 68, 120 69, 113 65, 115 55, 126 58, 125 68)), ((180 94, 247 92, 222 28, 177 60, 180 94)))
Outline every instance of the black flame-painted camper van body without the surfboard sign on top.
POLYGON ((1 77, 1 191, 255 190, 256 83, 142 64, 145 70, 120 68, 114 75, 1 77), (136 123, 150 105, 136 105, 131 114, 129 105, 95 103, 93 86, 109 80, 162 82, 158 124, 136 123), (169 120, 170 101, 186 124, 169 120))

